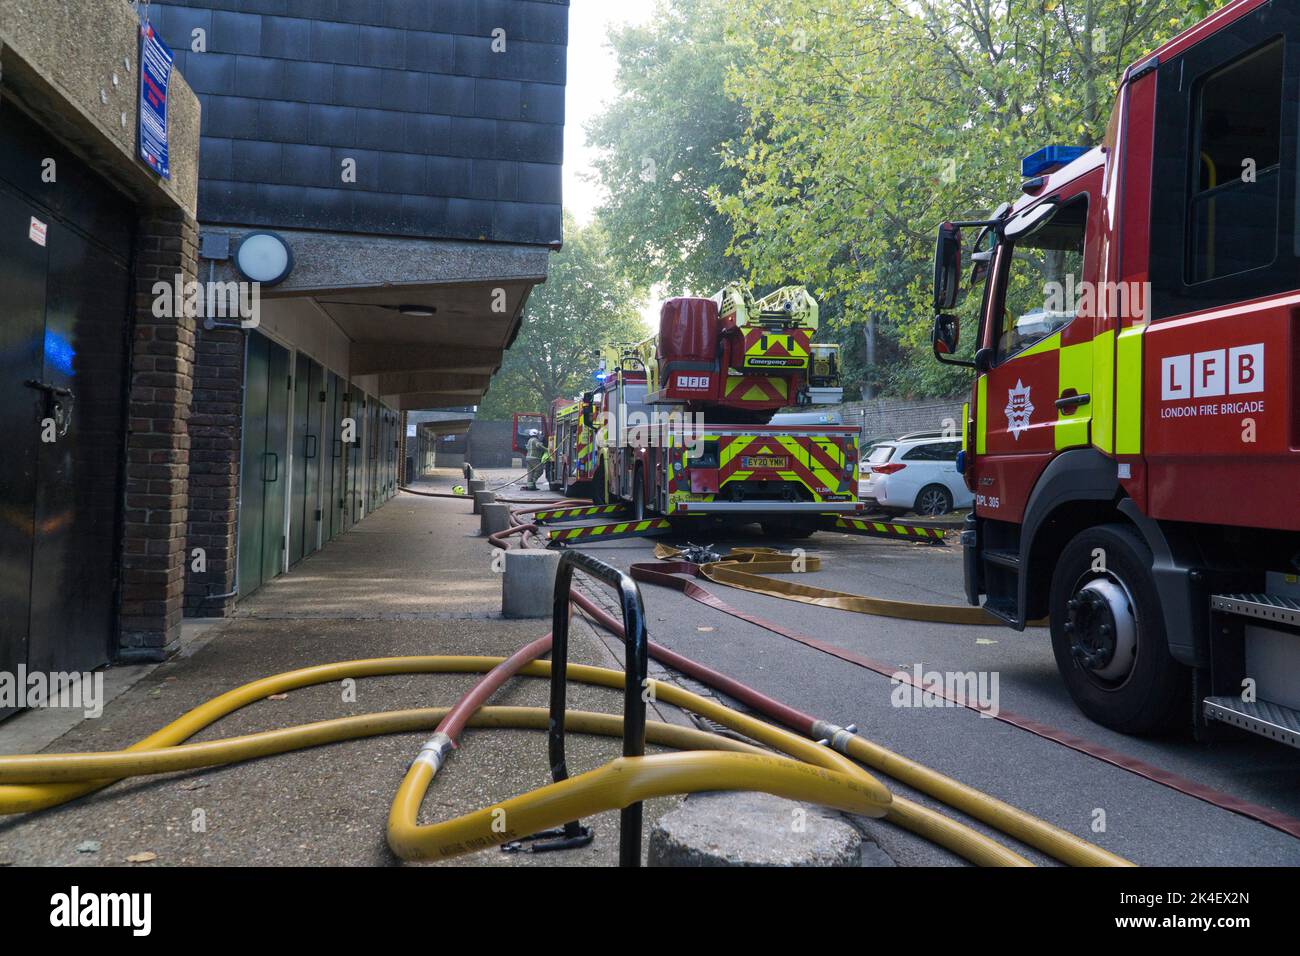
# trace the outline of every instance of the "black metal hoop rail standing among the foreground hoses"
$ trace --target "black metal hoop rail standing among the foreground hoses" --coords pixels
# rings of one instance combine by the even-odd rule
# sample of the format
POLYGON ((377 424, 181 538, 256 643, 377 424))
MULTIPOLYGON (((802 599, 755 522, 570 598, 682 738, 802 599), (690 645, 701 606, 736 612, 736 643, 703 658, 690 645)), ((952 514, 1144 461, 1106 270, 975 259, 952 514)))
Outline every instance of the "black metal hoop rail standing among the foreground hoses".
MULTIPOLYGON (((642 692, 650 669, 650 640, 646 636, 645 605, 641 589, 627 574, 582 551, 564 551, 555 572, 555 602, 551 611, 551 713, 547 749, 551 761, 551 779, 568 779, 564 760, 564 715, 568 691, 568 627, 569 589, 573 571, 580 570, 608 584, 619 593, 623 605, 623 633, 627 648, 623 685, 623 756, 642 757, 646 750, 646 701, 642 692)), ((577 821, 566 825, 567 834, 581 830, 577 821)), ((641 865, 642 805, 640 803, 619 812, 619 865, 641 865)))

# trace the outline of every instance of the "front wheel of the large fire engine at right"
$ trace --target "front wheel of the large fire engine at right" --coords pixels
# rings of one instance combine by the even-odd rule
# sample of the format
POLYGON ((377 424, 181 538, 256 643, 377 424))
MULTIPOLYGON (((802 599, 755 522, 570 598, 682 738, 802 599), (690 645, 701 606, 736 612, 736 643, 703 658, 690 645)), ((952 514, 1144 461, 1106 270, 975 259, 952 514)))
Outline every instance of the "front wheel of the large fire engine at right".
POLYGON ((1052 575, 1052 652, 1078 708, 1121 734, 1167 730, 1190 672, 1169 653, 1152 554, 1123 524, 1076 535, 1052 575))

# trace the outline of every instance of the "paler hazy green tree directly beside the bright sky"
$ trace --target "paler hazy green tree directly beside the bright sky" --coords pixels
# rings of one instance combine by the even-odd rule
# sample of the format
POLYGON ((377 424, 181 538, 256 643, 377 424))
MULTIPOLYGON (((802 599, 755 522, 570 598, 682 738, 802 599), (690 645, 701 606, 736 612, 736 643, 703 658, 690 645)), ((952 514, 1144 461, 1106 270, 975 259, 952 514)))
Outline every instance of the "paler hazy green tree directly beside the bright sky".
POLYGON ((745 130, 725 90, 736 53, 722 30, 727 5, 660 0, 646 25, 615 30, 615 95, 586 127, 611 248, 633 281, 666 295, 711 295, 740 274, 731 221, 711 199, 740 183, 720 152, 745 130))

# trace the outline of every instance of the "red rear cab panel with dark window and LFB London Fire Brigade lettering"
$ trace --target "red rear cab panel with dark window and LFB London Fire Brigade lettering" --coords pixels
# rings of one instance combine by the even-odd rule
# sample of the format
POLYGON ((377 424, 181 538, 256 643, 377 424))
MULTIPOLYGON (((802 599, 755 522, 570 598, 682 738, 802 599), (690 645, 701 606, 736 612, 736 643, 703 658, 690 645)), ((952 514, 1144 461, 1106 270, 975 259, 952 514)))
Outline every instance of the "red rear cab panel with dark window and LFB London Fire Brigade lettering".
POLYGON ((1150 518, 1300 531, 1300 10, 1260 4, 1145 83, 1150 321, 1118 450, 1150 518))

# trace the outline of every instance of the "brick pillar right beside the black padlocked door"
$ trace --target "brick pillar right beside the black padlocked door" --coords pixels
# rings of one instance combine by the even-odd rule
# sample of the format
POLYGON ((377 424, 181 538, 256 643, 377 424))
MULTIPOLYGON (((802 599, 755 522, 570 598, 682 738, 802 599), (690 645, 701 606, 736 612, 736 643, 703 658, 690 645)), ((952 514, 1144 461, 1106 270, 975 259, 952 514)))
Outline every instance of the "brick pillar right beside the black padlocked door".
POLYGON ((146 211, 136 228, 135 323, 124 489, 117 657, 159 661, 181 636, 194 319, 153 315, 153 284, 195 278, 198 225, 146 211))

